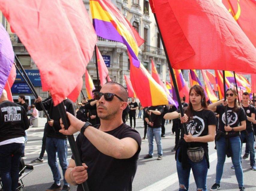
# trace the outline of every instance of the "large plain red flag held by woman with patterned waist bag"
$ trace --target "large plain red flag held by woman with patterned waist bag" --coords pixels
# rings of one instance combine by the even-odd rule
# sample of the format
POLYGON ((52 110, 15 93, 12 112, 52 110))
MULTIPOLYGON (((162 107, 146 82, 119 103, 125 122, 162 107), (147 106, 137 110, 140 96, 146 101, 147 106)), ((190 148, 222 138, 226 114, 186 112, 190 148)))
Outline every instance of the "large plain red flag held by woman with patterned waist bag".
POLYGON ((150 1, 173 68, 256 73, 256 49, 221 2, 150 1))

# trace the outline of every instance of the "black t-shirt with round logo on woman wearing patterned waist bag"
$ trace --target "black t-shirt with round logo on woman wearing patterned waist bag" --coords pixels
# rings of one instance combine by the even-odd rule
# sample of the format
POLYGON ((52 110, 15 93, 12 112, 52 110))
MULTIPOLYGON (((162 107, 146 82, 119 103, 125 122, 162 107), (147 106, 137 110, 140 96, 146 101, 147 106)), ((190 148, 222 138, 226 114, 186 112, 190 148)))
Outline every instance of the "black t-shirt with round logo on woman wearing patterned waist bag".
MULTIPOLYGON (((180 113, 180 110, 177 110, 180 113)), ((186 123, 188 133, 193 137, 202 137, 208 135, 208 126, 216 125, 216 116, 211 110, 193 111, 193 117, 186 123)), ((184 129, 181 129, 181 139, 184 137, 184 129)), ((191 142, 190 147, 202 147, 208 143, 191 142)))

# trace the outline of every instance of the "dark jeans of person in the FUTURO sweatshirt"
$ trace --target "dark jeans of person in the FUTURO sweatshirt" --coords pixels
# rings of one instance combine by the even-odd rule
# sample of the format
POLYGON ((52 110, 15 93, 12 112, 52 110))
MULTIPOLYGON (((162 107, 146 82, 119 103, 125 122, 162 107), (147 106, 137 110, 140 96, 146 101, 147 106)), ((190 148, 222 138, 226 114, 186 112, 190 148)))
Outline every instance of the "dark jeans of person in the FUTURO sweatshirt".
POLYGON ((22 143, 0 146, 0 173, 4 191, 16 191, 18 187, 19 161, 24 149, 25 144, 22 143))

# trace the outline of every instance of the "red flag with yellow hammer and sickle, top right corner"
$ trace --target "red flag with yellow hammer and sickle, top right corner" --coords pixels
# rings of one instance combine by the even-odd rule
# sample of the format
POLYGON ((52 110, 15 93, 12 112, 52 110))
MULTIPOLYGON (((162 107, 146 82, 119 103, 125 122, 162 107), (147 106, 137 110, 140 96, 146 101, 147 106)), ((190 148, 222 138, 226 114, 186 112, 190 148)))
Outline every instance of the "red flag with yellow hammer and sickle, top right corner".
POLYGON ((256 47, 256 1, 222 0, 222 3, 256 47))

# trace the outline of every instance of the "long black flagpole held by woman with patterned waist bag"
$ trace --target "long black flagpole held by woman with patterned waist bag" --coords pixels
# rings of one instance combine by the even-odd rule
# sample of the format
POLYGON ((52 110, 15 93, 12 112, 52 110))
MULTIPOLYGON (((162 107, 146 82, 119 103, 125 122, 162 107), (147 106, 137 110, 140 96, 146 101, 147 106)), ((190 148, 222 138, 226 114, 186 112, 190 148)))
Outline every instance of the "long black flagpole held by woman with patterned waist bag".
MULTIPOLYGON (((181 117, 183 117, 184 116, 184 111, 183 111, 183 107, 182 107, 182 104, 181 104, 181 101, 180 101, 180 94, 179 94, 177 82, 176 82, 176 79, 175 79, 175 76, 174 76, 173 69, 171 67, 171 62, 169 60, 169 57, 168 57, 168 54, 167 54, 167 50, 165 48, 165 44, 164 44, 164 41, 163 41, 162 34, 161 34, 161 31, 160 31, 160 28, 159 28, 159 25, 158 25, 158 22, 157 22, 157 19, 156 19, 156 13, 153 13, 153 15, 155 17, 156 26, 158 28, 159 35, 160 35, 160 38, 161 38, 161 41, 162 41, 162 45, 163 45, 163 48, 164 48, 164 51, 165 51, 165 57, 166 57, 166 60, 167 60, 167 63, 168 63, 168 67, 169 67, 170 73, 171 73, 171 80, 173 82, 174 90, 175 90, 175 93, 176 93, 176 96, 177 96, 177 102, 178 102, 178 105, 179 105, 180 114, 181 114, 181 117)), ((188 135, 189 133, 188 133, 188 129, 186 127, 186 124, 183 123, 182 125, 183 125, 183 129, 184 129, 185 134, 188 135)))

